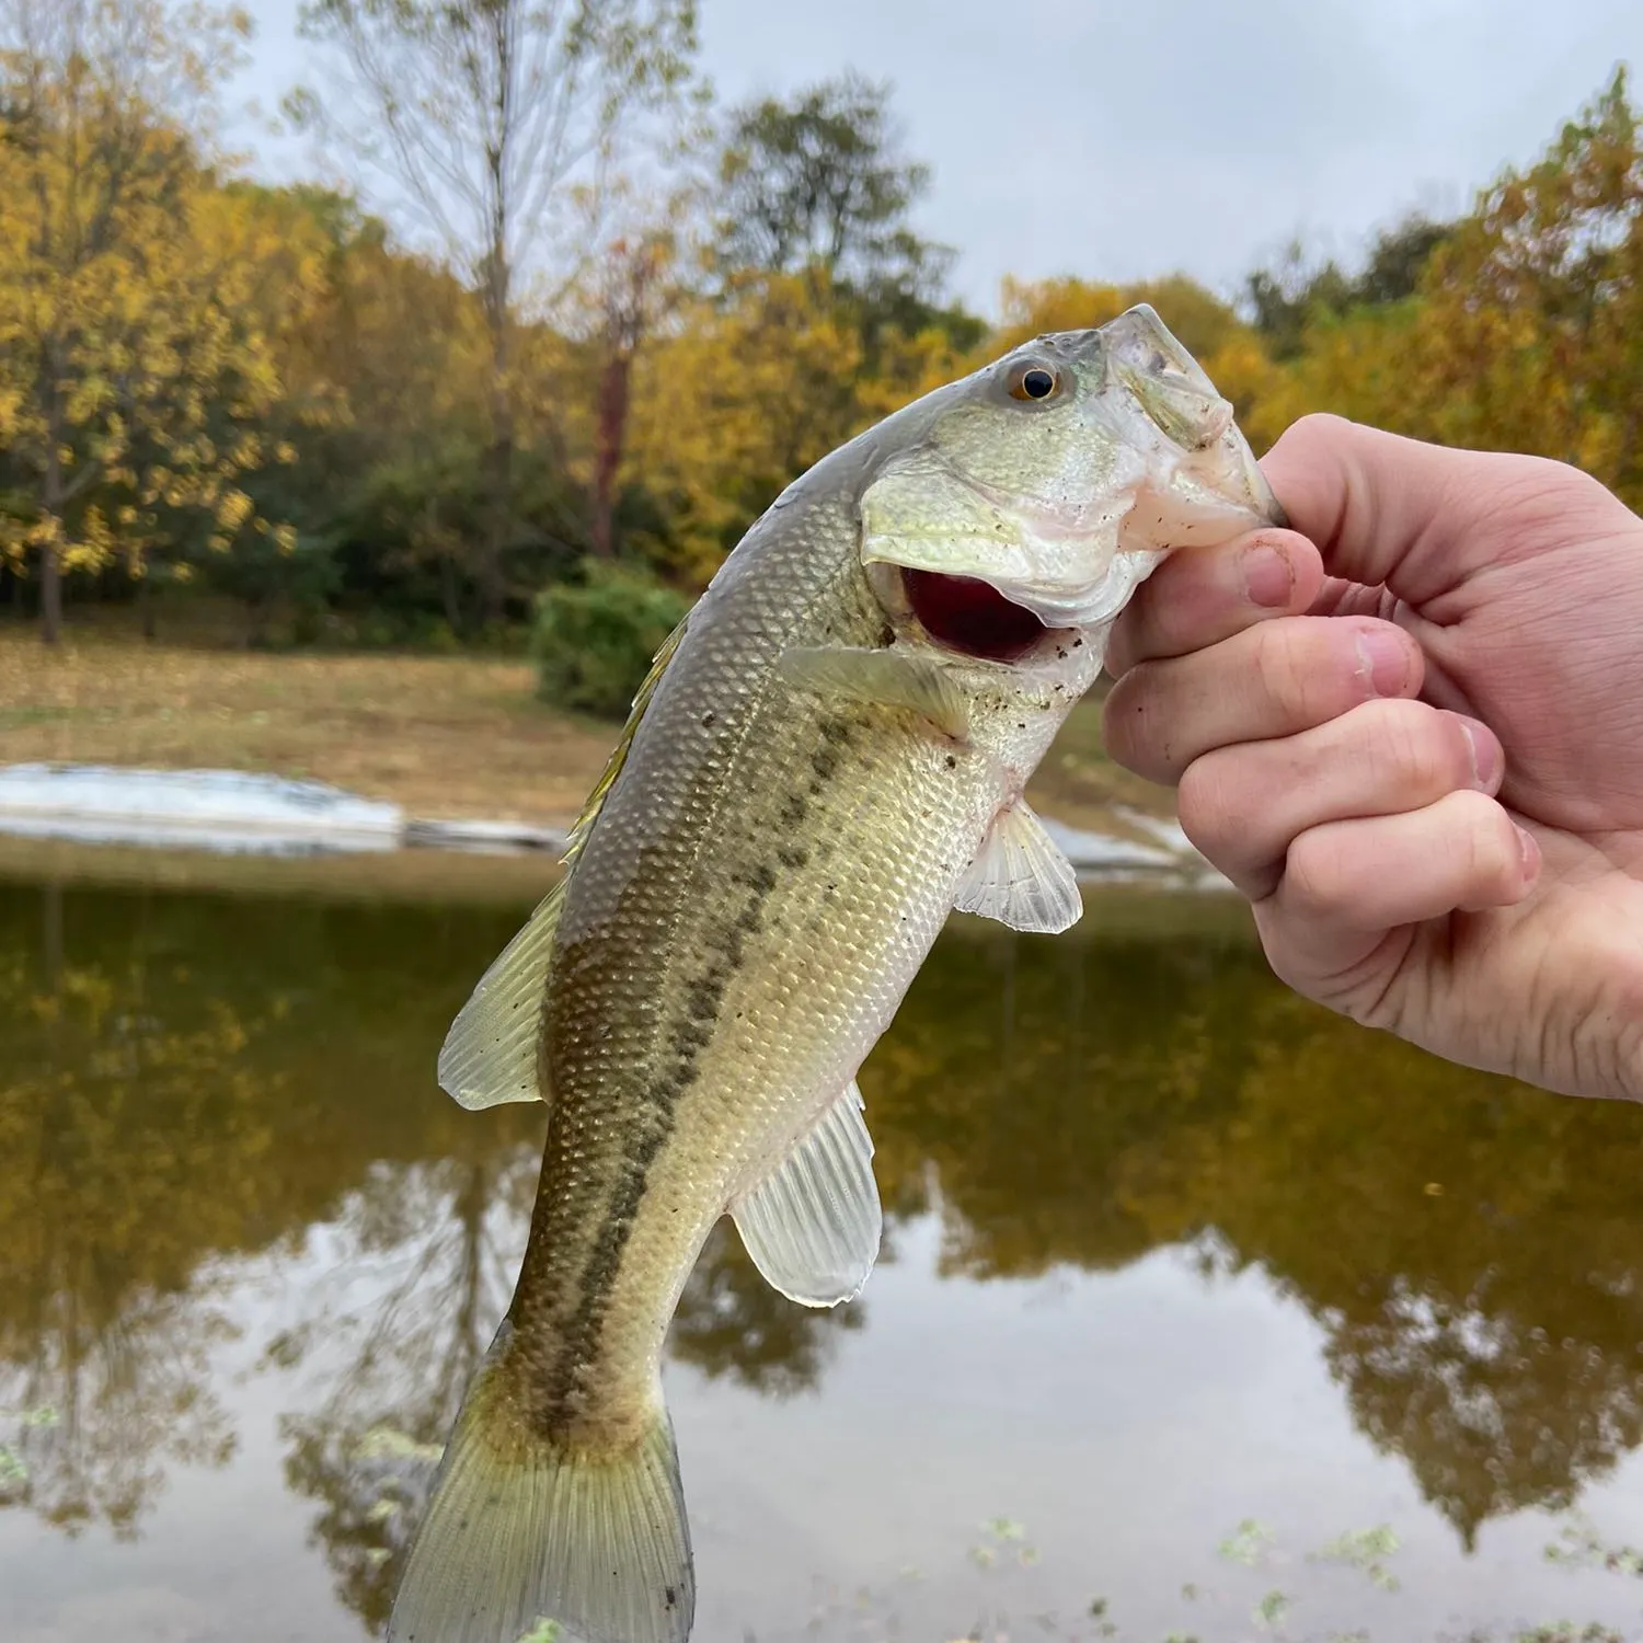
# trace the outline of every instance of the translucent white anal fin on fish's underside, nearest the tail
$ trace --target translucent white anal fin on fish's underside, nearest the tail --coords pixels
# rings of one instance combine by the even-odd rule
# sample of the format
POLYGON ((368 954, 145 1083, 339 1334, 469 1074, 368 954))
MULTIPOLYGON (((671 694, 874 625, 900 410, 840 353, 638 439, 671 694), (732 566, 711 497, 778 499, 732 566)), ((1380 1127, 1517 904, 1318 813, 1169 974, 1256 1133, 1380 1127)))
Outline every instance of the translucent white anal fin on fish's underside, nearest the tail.
POLYGON ((851 1301, 872 1272, 884 1231, 872 1137, 854 1079, 751 1193, 731 1204, 752 1263, 792 1301, 851 1301))

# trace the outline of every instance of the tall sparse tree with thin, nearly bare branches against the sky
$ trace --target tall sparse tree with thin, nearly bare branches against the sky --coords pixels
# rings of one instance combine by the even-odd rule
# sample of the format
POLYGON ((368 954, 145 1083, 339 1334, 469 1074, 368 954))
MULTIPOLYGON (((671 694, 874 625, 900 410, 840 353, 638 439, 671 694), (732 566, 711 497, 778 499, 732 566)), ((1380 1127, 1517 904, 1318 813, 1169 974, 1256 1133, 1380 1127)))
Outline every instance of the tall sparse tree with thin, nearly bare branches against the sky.
MULTIPOLYGON (((302 20, 340 53, 355 92, 358 117, 334 128, 480 297, 490 343, 480 582, 495 619, 513 529, 521 288, 580 260, 577 186, 598 182, 626 125, 682 92, 695 5, 307 0, 302 20)), ((314 117, 317 104, 302 112, 314 117)))

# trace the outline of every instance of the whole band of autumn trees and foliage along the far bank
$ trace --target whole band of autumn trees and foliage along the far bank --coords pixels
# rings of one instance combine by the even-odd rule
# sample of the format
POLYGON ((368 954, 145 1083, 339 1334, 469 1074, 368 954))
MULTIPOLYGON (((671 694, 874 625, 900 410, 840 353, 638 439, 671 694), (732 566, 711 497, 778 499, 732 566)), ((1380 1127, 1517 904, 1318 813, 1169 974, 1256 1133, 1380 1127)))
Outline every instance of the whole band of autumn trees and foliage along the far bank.
POLYGON ((690 0, 302 15, 350 97, 299 102, 360 115, 358 186, 391 176, 414 242, 352 192, 228 173, 238 12, 15 0, 0 23, 0 555, 48 628, 64 587, 148 621, 191 583, 243 606, 248 642, 513 642, 536 621, 544 688, 614 715, 618 652, 649 639, 601 628, 624 600, 580 578, 585 555, 641 567, 623 587, 647 611, 667 598, 649 572, 703 585, 782 486, 897 406, 1142 301, 1257 449, 1337 411, 1574 462, 1643 503, 1623 72, 1452 222, 1410 215, 1352 261, 1296 243, 1237 302, 1180 273, 1006 281, 989 329, 914 225, 932 173, 887 84, 731 108, 693 169, 690 0))

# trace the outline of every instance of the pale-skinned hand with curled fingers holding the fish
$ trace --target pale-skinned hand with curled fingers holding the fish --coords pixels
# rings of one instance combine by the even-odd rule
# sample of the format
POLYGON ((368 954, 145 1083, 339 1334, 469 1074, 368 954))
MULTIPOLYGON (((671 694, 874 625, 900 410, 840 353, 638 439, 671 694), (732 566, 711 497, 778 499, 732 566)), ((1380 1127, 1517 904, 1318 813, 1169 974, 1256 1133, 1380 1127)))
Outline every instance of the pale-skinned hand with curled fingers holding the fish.
POLYGON ((1171 554, 1114 628, 1112 756, 1178 784, 1298 992, 1643 1099, 1643 519, 1337 417, 1262 468, 1293 529, 1171 554))

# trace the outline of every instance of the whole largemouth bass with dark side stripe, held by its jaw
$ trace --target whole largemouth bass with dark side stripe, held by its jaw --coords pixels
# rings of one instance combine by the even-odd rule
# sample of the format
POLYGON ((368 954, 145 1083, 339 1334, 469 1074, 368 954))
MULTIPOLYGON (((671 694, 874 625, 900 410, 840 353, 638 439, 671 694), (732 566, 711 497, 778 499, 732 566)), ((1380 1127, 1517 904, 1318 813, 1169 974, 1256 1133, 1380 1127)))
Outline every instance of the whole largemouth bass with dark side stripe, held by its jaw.
POLYGON ((518 1286, 391 1643, 685 1643, 664 1337, 715 1222, 805 1306, 882 1214, 856 1071, 953 909, 1068 928, 1022 797, 1163 555, 1280 521, 1232 406, 1142 306, 886 417, 749 527, 656 657, 565 871, 440 1052, 547 1102, 518 1286))

